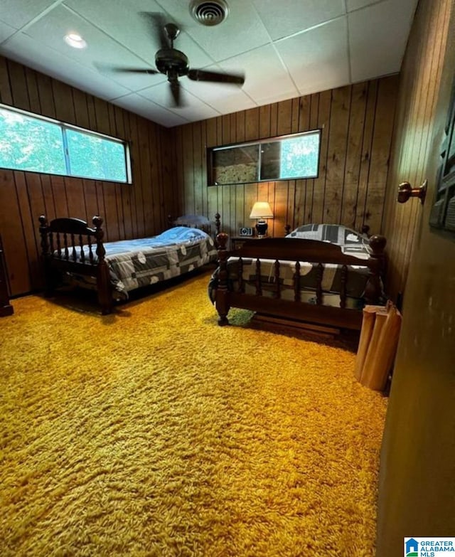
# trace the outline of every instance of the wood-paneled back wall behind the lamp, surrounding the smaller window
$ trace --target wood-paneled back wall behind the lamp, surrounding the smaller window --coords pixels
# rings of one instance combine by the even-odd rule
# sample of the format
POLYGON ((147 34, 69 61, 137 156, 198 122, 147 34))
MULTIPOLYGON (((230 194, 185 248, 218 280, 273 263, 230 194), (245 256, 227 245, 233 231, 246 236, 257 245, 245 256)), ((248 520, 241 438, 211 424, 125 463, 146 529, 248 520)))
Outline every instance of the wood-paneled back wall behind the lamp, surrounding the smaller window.
POLYGON ((340 87, 272 105, 235 112, 171 130, 175 144, 173 176, 186 213, 213 216, 235 235, 255 201, 274 212, 269 233, 284 226, 343 223, 379 233, 384 208, 397 97, 397 75, 340 87), (259 184, 207 187, 206 148, 322 129, 319 177, 259 184))

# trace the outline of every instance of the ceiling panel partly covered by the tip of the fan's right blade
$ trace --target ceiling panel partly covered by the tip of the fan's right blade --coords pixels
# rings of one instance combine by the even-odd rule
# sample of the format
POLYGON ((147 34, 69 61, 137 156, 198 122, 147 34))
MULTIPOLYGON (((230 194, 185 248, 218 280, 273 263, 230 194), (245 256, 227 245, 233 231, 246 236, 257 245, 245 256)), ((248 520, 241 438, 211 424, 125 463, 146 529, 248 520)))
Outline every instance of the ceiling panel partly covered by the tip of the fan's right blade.
POLYGON ((258 105, 265 104, 267 99, 277 95, 290 98, 299 94, 272 45, 261 46, 219 65, 227 72, 238 68, 245 70, 242 89, 258 105))

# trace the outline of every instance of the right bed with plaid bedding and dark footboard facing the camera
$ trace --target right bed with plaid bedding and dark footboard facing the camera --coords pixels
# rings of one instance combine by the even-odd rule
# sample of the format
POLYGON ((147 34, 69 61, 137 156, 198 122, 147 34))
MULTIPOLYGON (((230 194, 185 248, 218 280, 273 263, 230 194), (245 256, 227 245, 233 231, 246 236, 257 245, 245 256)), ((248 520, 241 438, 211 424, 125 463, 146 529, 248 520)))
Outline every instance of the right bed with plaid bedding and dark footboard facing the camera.
POLYGON ((365 304, 385 303, 383 236, 309 224, 285 238, 245 240, 228 250, 218 235, 209 296, 227 325, 231 307, 294 322, 360 330, 365 304))

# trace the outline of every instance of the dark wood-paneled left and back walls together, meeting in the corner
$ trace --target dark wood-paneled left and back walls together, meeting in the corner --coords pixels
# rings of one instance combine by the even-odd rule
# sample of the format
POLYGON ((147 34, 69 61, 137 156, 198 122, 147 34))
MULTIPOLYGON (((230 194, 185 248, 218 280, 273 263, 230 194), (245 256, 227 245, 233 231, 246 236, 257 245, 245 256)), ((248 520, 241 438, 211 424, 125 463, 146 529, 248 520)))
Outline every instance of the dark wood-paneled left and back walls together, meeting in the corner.
POLYGON ((0 101, 129 142, 133 184, 0 169, 0 233, 13 295, 42 286, 38 216, 105 218, 107 240, 152 235, 169 213, 213 217, 237 234, 267 199, 282 235, 309 222, 343 223, 380 232, 397 75, 165 129, 0 57, 0 101), (207 147, 322 129, 319 177, 207 186, 207 147))

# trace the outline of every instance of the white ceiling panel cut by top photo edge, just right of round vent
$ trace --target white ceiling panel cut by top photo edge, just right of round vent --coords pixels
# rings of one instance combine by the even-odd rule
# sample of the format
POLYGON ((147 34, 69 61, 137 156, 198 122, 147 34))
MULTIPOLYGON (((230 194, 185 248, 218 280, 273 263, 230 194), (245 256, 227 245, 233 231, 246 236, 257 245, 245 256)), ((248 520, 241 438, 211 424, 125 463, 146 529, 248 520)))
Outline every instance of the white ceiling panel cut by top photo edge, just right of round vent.
POLYGON ((272 39, 299 33, 345 12, 344 0, 252 0, 272 39))

